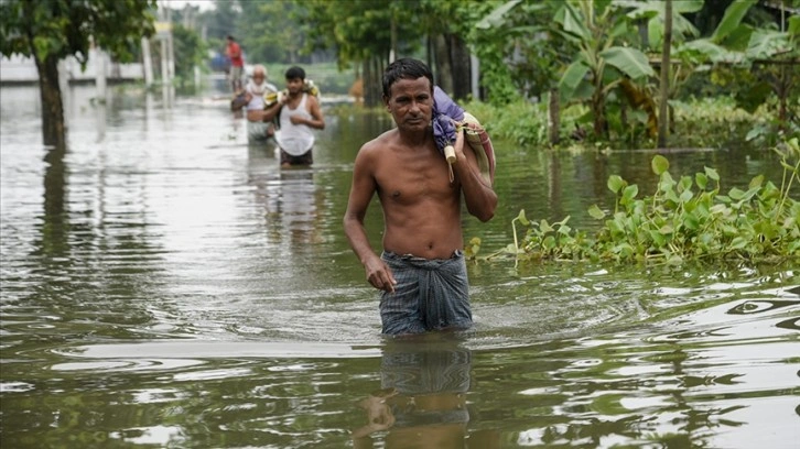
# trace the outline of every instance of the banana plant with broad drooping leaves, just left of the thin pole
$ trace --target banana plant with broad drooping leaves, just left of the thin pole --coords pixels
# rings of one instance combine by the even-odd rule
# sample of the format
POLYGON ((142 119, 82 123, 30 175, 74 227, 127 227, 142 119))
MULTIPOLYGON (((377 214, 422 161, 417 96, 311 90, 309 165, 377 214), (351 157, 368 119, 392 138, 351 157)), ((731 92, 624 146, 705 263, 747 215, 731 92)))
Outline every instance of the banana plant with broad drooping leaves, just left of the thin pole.
POLYGON ((587 101, 596 136, 607 136, 606 99, 624 79, 655 76, 647 56, 627 46, 636 39, 629 19, 610 0, 570 0, 556 12, 556 32, 579 51, 564 70, 563 102, 587 101))

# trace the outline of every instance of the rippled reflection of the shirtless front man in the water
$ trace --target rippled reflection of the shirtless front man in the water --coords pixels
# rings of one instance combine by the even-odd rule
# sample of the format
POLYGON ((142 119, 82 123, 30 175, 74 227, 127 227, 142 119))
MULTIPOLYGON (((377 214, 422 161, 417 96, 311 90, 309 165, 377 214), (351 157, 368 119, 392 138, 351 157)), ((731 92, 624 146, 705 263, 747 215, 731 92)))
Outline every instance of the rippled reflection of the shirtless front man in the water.
POLYGON ((387 449, 499 448, 497 431, 468 432, 472 351, 463 343, 451 335, 389 341, 381 388, 359 402, 367 424, 353 430, 354 447, 371 448, 386 431, 387 449))

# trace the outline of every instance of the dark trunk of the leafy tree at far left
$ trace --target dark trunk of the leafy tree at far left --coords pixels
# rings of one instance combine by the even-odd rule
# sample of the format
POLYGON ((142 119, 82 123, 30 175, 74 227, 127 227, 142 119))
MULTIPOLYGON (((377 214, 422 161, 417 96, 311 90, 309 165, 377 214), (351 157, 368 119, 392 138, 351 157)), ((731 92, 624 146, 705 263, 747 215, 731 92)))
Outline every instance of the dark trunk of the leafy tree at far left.
POLYGON ((47 146, 66 147, 66 127, 64 125, 64 102, 58 85, 58 59, 47 56, 44 61, 35 58, 39 70, 39 94, 42 101, 42 140, 47 146))

